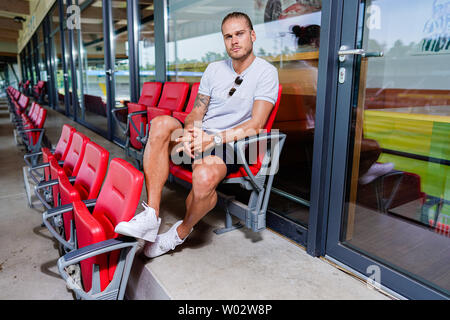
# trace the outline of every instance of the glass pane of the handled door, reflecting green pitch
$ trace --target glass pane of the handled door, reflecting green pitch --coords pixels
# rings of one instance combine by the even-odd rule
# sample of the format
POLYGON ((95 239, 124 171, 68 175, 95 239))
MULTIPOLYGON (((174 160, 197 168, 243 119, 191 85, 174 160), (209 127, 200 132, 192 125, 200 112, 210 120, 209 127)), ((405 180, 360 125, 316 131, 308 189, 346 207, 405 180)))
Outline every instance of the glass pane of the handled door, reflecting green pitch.
POLYGON ((450 1, 366 1, 341 240, 450 293, 450 1), (383 17, 377 20, 377 17, 383 17), (405 25, 403 21, 414 21, 405 25))

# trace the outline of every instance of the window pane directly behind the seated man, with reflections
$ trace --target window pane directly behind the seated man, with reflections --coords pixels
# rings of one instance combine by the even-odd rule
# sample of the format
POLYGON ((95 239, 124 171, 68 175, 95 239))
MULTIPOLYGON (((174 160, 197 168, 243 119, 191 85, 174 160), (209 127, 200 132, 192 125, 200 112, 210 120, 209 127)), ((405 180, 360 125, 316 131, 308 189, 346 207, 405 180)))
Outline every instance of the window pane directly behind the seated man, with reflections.
POLYGON ((252 19, 254 52, 277 67, 283 86, 273 128, 287 140, 269 209, 303 225, 309 217, 321 7, 320 0, 210 1, 207 6, 170 0, 168 6, 169 81, 198 82, 209 63, 229 58, 220 32, 228 13, 241 11, 252 19))

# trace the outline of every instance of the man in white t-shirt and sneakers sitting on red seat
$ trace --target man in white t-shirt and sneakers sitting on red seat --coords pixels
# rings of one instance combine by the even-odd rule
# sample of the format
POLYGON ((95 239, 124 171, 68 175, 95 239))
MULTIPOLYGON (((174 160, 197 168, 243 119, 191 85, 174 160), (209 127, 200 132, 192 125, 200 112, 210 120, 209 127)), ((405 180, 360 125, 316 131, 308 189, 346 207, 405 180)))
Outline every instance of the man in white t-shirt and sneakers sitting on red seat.
POLYGON ((117 233, 148 241, 144 248, 148 257, 157 257, 182 244, 200 219, 215 207, 216 187, 229 173, 239 170, 235 162, 230 164, 233 141, 259 133, 276 103, 277 69, 254 55, 256 34, 250 18, 240 12, 228 14, 222 21, 222 35, 231 59, 208 65, 184 125, 170 116, 152 120, 144 151, 148 205, 143 204, 143 212, 116 227, 117 233), (177 130, 182 134, 173 140, 177 130), (174 151, 193 159, 192 189, 186 199, 184 220, 157 235, 162 189, 169 176, 169 156, 174 151))

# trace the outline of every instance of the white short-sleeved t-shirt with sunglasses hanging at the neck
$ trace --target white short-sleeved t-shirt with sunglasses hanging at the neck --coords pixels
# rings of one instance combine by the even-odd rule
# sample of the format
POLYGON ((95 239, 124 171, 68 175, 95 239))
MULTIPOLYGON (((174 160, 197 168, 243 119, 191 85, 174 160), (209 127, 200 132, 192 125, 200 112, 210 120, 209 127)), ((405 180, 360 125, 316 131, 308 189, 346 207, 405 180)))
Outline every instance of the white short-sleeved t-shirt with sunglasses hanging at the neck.
POLYGON ((203 73, 198 93, 211 97, 202 129, 214 134, 250 120, 255 100, 275 104, 278 71, 258 57, 240 75, 234 71, 231 59, 212 62, 203 73), (243 79, 240 85, 234 83, 237 76, 243 79), (233 87, 236 91, 230 96, 233 87))

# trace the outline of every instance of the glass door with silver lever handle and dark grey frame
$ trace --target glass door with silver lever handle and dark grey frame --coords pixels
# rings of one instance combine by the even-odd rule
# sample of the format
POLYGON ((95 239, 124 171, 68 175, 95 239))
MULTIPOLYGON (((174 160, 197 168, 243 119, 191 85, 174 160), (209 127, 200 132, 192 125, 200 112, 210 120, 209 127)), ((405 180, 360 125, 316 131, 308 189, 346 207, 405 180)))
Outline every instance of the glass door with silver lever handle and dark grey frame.
POLYGON ((412 299, 450 297, 449 8, 345 1, 336 53, 326 253, 412 299))

